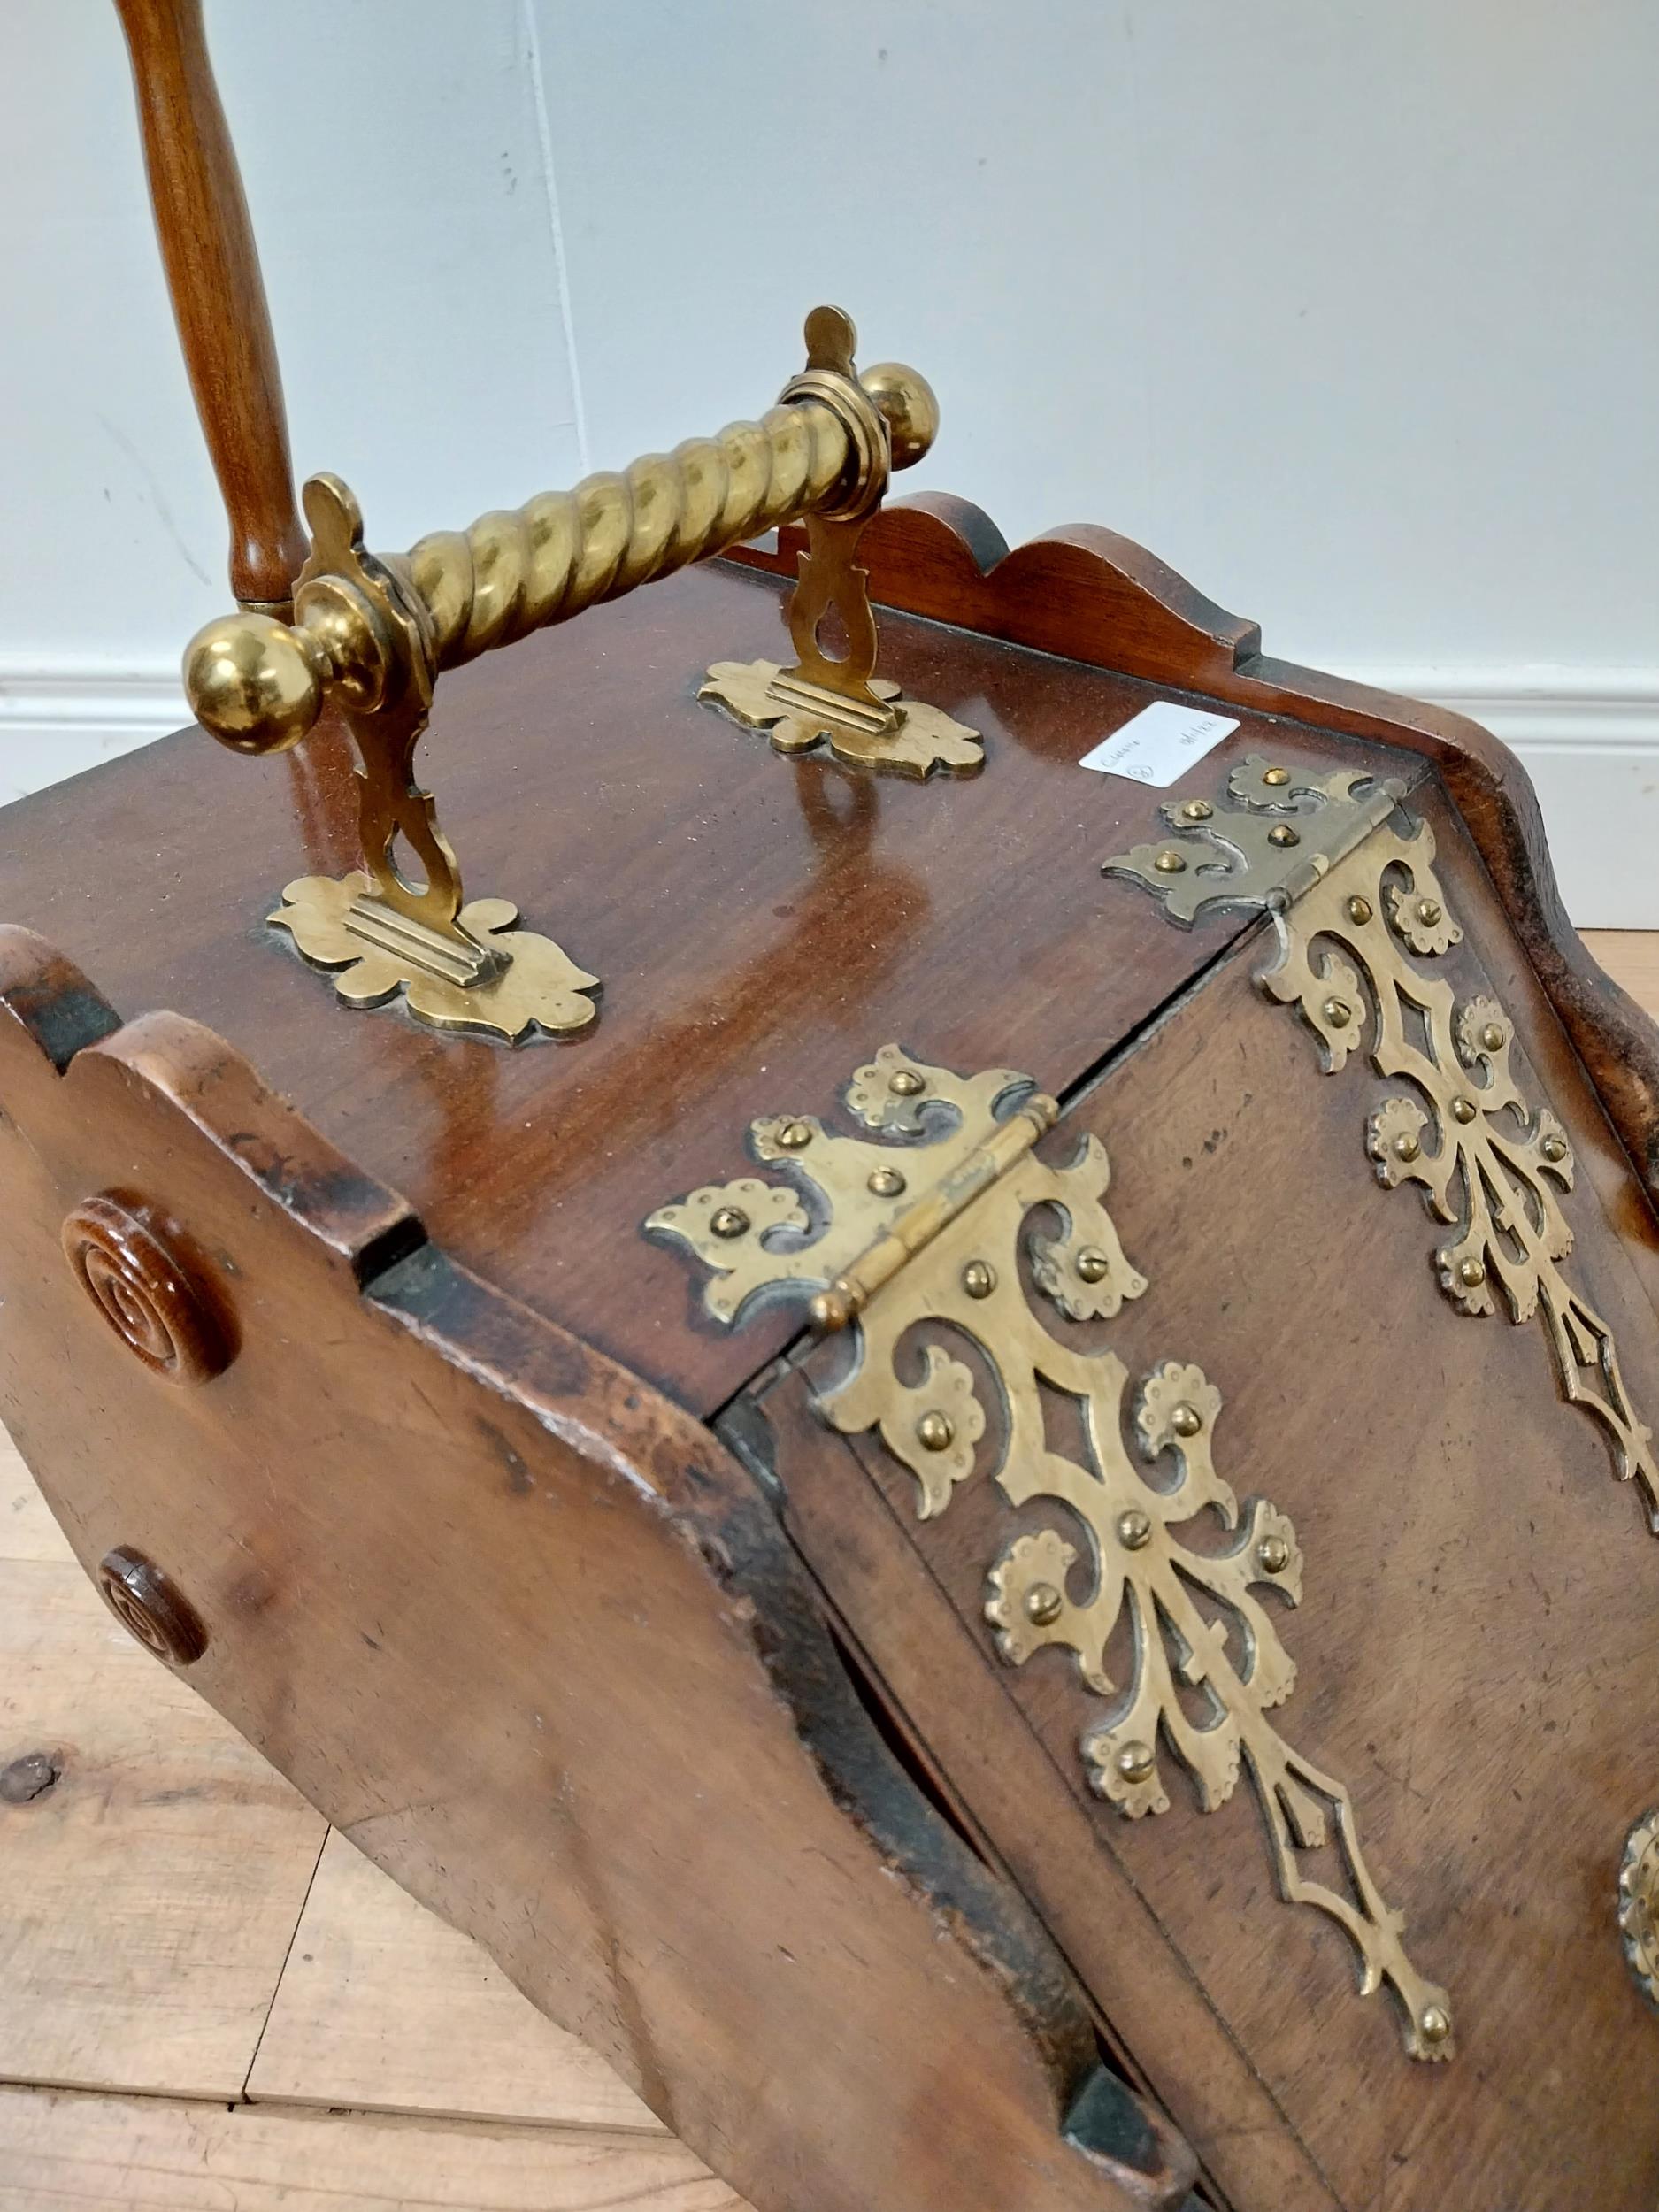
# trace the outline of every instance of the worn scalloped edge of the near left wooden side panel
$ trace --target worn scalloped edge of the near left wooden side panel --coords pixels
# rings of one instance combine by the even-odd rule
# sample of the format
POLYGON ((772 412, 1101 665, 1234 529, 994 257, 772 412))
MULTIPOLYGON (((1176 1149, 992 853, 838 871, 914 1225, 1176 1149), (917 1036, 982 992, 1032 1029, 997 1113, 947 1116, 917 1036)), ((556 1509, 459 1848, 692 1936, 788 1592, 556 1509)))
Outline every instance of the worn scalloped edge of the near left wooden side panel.
MULTIPOLYGON (((1051 1938, 880 1741, 805 1568, 726 1447, 650 1385, 431 1245, 394 1192, 265 1091, 250 1064, 206 1026, 175 1013, 108 1026, 115 1015, 80 969, 18 929, 0 929, 0 1009, 13 1022, 7 1053, 13 1071, 15 1031, 24 1031, 38 1064, 49 1068, 46 1082, 77 1086, 95 1073, 150 1091, 301 1232, 347 1261, 365 1303, 529 1413, 613 1491, 668 1522, 708 1577, 710 1604, 726 1621, 741 1621, 750 1657, 790 1714, 836 1812, 883 1854, 887 1874, 909 1887, 931 1916, 936 1940, 971 1964, 1011 2015, 1048 2081, 1055 2143, 1086 2159, 1108 2190, 1102 2203, 1183 2203, 1194 2174, 1188 2146, 1126 2086, 1121 2101, 1099 2088, 1093 2020, 1051 1938), (53 1009, 55 995, 73 1009, 73 1020, 53 1009), (86 1040, 80 1048, 66 1044, 73 1033, 86 1040), (1139 2154, 1150 2163, 1126 2163, 1139 2154)), ((319 1809, 327 1816, 327 1807, 319 1809)), ((498 1964, 522 1986, 511 1962, 498 1964)), ((661 2117, 675 2124, 675 2115, 661 2117)))

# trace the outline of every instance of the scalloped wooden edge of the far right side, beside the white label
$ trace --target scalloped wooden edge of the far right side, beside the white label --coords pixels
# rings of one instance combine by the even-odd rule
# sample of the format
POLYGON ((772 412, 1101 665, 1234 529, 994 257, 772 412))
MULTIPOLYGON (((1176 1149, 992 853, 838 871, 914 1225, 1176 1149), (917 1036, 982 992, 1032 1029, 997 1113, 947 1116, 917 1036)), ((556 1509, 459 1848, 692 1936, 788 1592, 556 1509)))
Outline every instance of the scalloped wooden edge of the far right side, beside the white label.
MULTIPOLYGON (((739 546, 726 557, 792 575, 803 546, 801 529, 781 529, 776 551, 739 546)), ((1659 1026, 1568 920, 1531 776, 1491 730, 1449 708, 1272 659, 1256 624, 1206 599, 1130 538, 1093 524, 1011 551, 969 500, 922 491, 883 507, 860 540, 860 560, 880 606, 1429 761, 1650 1206, 1659 1206, 1659 1026)))

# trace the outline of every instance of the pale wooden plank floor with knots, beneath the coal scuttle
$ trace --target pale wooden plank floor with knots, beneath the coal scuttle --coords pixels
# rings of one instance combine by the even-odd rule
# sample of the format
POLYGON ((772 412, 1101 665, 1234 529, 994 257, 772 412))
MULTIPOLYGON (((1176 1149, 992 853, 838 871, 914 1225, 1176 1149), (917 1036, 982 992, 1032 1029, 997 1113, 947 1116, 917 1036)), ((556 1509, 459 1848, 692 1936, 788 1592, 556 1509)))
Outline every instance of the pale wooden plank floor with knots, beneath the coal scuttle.
MULTIPOLYGON (((1659 933, 1601 933, 1659 1013, 1659 933)), ((115 1626, 0 1433, 0 2212, 743 2212, 115 1626)))

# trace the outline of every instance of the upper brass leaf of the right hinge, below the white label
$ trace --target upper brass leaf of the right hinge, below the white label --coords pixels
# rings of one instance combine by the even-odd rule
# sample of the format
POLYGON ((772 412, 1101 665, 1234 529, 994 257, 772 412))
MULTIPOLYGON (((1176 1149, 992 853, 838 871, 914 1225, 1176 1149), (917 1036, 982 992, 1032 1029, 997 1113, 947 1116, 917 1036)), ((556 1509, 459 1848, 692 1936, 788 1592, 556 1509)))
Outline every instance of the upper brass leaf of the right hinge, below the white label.
POLYGON ((1228 776, 1228 807, 1168 799, 1170 836, 1106 860, 1164 900, 1181 929, 1217 907, 1292 907, 1380 830, 1405 799, 1394 776, 1365 768, 1283 768, 1261 752, 1228 776))

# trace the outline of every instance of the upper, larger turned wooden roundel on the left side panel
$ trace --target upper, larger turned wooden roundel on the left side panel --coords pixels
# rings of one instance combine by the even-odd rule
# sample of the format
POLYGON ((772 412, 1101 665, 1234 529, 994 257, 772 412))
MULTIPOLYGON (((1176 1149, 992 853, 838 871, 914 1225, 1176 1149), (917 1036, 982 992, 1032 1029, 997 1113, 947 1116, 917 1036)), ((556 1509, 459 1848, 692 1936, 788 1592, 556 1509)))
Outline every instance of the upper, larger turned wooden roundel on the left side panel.
POLYGON ((230 1338, 204 1287, 144 1206, 104 1192, 64 1221, 64 1256, 86 1296, 150 1374, 210 1383, 230 1338))

